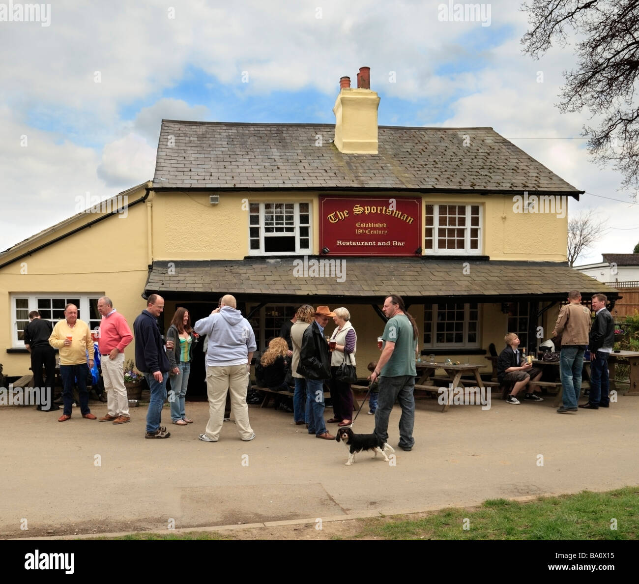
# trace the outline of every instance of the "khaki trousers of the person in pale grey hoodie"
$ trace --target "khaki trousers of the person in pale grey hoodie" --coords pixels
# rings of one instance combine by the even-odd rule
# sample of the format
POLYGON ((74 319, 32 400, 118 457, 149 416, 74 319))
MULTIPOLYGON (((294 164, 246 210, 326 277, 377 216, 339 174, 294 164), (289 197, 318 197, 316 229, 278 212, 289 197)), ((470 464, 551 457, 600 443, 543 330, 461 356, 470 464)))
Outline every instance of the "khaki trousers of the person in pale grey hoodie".
POLYGON ((231 411, 235 426, 243 440, 249 440, 253 434, 249 422, 249 406, 246 392, 249 384, 249 371, 246 364, 225 365, 223 367, 206 366, 206 390, 208 393, 208 424, 206 436, 219 440, 224 424, 224 404, 227 390, 231 394, 231 411))

